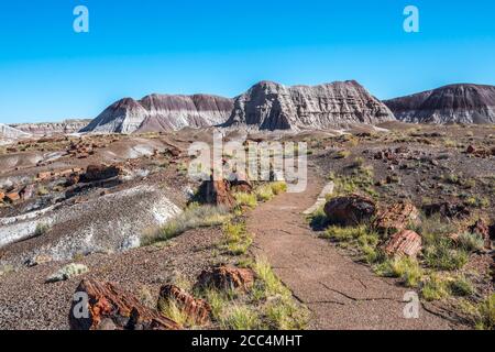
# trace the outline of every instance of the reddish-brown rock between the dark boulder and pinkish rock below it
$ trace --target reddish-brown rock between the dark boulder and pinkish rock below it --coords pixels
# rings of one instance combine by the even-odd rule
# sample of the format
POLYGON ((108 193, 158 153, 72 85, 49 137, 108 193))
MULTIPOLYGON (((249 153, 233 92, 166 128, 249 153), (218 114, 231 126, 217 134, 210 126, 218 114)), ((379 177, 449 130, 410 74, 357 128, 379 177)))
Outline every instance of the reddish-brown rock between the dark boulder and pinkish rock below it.
POLYGON ((404 201, 380 211, 374 221, 374 228, 378 232, 395 233, 419 221, 418 209, 411 202, 404 201))

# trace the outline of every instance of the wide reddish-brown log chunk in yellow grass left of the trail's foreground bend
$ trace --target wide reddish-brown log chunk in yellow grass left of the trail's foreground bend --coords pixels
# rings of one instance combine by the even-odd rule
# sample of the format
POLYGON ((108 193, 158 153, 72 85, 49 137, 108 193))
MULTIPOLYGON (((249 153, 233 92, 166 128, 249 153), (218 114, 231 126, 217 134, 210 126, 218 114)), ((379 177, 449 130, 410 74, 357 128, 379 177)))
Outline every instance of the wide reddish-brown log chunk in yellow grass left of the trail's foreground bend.
POLYGON ((201 287, 217 287, 220 289, 240 288, 248 290, 254 284, 254 272, 250 268, 240 268, 231 265, 220 265, 204 271, 198 277, 201 287))

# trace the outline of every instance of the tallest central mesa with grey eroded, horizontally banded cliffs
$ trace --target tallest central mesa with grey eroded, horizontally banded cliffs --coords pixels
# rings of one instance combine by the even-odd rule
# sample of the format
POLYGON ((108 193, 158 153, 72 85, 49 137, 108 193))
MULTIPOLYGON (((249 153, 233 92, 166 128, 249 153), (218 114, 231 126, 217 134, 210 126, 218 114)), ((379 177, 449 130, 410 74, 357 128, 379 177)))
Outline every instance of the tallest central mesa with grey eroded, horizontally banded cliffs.
POLYGON ((262 81, 237 98, 224 127, 298 131, 391 120, 391 110, 353 80, 314 87, 262 81))

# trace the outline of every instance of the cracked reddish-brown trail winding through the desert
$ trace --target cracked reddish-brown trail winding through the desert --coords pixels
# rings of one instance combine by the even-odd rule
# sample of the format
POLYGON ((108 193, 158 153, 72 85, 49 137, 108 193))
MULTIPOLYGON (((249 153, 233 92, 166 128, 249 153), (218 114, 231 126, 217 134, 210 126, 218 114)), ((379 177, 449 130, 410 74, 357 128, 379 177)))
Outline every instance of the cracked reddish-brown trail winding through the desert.
POLYGON ((284 194, 261 205, 248 218, 254 251, 314 314, 312 329, 462 328, 420 308, 419 319, 405 319, 408 292, 342 255, 309 228, 302 211, 324 186, 314 168, 302 194, 284 194))

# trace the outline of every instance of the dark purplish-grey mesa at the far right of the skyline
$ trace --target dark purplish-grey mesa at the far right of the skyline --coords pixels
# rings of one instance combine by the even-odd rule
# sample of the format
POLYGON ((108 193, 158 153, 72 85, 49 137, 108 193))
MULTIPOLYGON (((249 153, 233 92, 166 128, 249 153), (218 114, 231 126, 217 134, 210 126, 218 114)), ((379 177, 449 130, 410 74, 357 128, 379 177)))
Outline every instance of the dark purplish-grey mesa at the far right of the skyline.
POLYGON ((451 85, 384 101, 411 123, 495 123, 495 86, 451 85))

